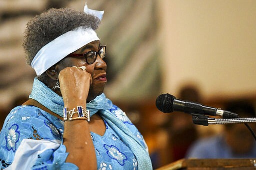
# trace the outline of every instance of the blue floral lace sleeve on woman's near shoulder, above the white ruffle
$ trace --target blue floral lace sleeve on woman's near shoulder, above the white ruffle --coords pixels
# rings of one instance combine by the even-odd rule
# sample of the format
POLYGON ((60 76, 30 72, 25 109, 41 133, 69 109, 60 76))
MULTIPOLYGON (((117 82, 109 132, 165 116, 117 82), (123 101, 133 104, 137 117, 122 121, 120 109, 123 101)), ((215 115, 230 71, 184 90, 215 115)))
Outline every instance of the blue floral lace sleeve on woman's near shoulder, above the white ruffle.
POLYGON ((45 114, 35 106, 26 105, 10 111, 0 131, 0 160, 11 163, 23 139, 61 140, 61 121, 53 122, 45 114))

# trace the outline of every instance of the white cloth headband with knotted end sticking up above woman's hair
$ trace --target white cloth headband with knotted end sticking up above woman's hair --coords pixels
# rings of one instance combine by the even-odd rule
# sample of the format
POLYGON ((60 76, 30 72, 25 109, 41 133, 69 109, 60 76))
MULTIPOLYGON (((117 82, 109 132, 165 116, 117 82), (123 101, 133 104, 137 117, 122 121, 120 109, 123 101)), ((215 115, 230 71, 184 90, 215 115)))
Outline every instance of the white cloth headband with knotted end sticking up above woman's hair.
MULTIPOLYGON (((104 13, 104 11, 89 9, 86 3, 84 12, 93 14, 99 19, 102 18, 104 13)), ((95 40, 99 40, 99 38, 91 28, 80 26, 70 30, 44 45, 34 56, 31 67, 35 70, 36 75, 39 76, 71 52, 95 40)))

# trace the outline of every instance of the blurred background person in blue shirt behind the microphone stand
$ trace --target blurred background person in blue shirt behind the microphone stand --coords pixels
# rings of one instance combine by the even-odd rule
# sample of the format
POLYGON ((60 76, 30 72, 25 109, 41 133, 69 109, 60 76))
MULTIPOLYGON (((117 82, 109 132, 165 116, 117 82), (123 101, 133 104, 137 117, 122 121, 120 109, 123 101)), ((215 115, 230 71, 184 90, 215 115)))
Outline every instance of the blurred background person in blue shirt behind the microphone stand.
MULTIPOLYGON (((237 113, 239 117, 255 117, 250 101, 237 100, 226 104, 225 110, 237 113)), ((255 123, 248 124, 255 132, 255 123)), ((213 125, 214 126, 214 125, 213 125)), ((197 140, 186 153, 186 158, 231 159, 255 158, 256 143, 244 124, 225 124, 219 135, 197 140)))

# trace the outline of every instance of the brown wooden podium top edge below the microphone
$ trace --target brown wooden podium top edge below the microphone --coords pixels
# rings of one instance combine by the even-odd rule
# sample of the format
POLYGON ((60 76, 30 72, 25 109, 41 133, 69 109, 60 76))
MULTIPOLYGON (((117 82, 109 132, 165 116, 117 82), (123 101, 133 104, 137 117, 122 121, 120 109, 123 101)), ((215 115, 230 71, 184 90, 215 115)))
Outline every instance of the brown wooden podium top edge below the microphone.
POLYGON ((182 159, 156 170, 256 170, 256 158, 182 159))

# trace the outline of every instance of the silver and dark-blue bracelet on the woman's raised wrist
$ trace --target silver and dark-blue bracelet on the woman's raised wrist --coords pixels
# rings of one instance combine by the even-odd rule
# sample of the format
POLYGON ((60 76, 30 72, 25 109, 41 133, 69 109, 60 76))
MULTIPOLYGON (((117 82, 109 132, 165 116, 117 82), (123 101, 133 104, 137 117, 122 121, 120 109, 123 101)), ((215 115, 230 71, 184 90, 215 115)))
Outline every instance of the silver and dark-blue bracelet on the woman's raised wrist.
POLYGON ((77 111, 75 112, 75 108, 73 108, 70 111, 67 111, 67 107, 64 107, 63 109, 63 120, 66 121, 67 120, 67 114, 69 114, 69 121, 72 120, 79 120, 79 119, 84 119, 87 120, 88 122, 90 121, 90 111, 84 109, 81 106, 77 106, 77 111), (72 118, 74 114, 77 114, 78 116, 75 118, 72 118))

